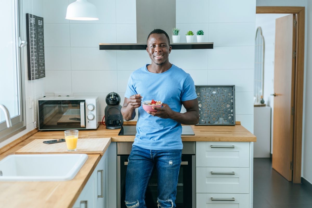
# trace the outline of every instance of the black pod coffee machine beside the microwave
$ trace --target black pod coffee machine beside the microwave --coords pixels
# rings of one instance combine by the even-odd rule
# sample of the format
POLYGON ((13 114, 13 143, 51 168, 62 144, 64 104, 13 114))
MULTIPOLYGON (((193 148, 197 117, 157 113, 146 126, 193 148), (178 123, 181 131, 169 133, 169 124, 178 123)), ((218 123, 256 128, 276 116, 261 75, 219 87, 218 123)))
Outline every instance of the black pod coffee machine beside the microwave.
POLYGON ((106 129, 121 129, 124 118, 121 115, 120 96, 116 92, 111 92, 106 96, 105 125, 106 129))

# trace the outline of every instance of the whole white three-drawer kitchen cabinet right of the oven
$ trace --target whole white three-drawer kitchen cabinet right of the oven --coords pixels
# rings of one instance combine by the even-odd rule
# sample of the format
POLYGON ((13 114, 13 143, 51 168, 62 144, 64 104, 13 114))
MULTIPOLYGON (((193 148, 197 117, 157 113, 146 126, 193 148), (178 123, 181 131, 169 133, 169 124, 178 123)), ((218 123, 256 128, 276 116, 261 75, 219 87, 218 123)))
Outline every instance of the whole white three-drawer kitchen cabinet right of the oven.
POLYGON ((197 208, 252 206, 250 146, 250 142, 196 142, 197 208))

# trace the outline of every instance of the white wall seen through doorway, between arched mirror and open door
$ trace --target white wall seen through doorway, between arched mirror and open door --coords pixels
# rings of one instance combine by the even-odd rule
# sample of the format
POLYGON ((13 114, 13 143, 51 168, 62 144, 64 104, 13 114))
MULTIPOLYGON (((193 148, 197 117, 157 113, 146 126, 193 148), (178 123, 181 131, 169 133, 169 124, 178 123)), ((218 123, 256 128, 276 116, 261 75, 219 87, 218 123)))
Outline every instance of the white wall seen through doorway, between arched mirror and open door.
MULTIPOLYGON (((271 154, 273 151, 273 112, 274 112, 274 51, 275 51, 275 19, 289 14, 256 14, 256 30, 262 29, 264 47, 264 90, 263 99, 271 107, 271 154)), ((257 118, 254 117, 254 120, 257 118)))

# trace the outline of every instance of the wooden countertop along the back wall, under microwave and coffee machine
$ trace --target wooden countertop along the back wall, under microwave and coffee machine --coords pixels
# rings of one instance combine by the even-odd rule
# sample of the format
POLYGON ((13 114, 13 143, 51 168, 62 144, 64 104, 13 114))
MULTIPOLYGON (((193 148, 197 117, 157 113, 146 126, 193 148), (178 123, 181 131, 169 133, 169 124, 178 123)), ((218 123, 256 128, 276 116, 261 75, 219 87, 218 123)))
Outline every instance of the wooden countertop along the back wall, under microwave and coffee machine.
MULTIPOLYGON (((255 142, 256 136, 242 125, 235 126, 195 126, 191 125, 195 135, 182 135, 182 141, 232 141, 255 142)), ((80 130, 79 138, 110 137, 112 142, 133 142, 135 136, 118 136, 120 129, 106 129, 100 125, 96 130, 80 130)), ((64 131, 39 131, 30 138, 63 138, 64 131)))

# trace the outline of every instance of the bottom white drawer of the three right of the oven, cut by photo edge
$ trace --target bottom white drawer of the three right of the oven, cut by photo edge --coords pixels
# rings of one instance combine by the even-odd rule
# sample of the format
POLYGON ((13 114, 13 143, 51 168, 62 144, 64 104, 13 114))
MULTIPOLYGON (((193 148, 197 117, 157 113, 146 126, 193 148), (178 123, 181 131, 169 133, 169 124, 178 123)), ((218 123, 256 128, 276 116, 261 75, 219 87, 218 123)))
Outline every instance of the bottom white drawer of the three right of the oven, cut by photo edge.
POLYGON ((197 193, 196 208, 249 208, 249 194, 197 193))

